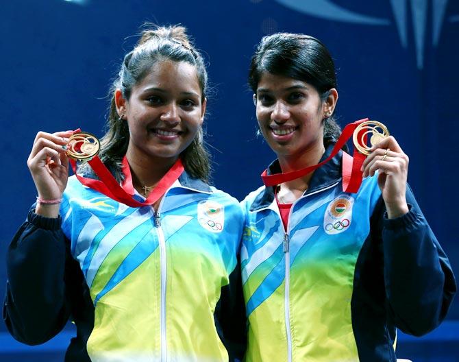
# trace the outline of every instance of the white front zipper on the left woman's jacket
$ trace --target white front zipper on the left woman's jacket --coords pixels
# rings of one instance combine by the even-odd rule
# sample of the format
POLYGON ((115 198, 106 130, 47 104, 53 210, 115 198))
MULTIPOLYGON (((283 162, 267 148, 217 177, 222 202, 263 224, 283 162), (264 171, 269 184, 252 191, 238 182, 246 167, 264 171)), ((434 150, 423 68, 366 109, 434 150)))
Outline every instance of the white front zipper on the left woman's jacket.
POLYGON ((161 300, 160 300, 160 325, 161 325, 161 361, 167 361, 167 339, 166 339, 166 239, 161 228, 161 215, 158 210, 154 215, 156 232, 160 246, 160 269, 161 269, 161 300))

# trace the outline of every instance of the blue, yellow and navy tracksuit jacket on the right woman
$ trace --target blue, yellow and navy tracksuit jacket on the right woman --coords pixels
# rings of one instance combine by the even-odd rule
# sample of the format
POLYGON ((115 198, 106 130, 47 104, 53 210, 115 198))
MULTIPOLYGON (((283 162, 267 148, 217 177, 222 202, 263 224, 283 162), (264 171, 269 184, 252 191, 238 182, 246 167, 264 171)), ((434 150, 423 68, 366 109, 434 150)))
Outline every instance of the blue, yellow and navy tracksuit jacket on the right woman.
POLYGON ((454 274, 410 189, 410 211, 387 219, 377 176, 343 192, 341 156, 314 171, 287 230, 273 187, 243 202, 247 362, 396 361, 396 328, 423 335, 449 309, 454 274))

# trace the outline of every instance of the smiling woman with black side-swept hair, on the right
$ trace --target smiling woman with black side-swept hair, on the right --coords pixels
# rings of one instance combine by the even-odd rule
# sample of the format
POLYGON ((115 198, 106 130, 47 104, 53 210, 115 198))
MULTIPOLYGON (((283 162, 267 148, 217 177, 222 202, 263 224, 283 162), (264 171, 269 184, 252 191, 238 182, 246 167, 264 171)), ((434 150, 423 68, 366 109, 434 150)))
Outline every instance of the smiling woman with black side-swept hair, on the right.
POLYGON ((429 332, 456 292, 447 256, 406 183, 408 156, 392 136, 380 140, 356 193, 343 191, 344 150, 289 179, 328 158, 340 135, 332 57, 312 36, 266 36, 249 84, 277 156, 264 180, 279 182, 243 201, 245 361, 396 361, 396 328, 429 332))

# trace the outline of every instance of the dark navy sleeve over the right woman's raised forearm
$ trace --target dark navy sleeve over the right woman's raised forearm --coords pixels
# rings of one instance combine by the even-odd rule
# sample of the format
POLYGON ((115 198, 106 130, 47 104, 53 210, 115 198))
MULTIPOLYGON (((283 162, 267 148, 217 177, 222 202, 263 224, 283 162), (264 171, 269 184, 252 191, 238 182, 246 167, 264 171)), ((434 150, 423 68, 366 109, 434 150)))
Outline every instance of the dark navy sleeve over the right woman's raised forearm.
POLYGON ((386 296, 397 326, 413 335, 427 333, 445 317, 456 285, 417 205, 384 221, 383 250, 386 296))

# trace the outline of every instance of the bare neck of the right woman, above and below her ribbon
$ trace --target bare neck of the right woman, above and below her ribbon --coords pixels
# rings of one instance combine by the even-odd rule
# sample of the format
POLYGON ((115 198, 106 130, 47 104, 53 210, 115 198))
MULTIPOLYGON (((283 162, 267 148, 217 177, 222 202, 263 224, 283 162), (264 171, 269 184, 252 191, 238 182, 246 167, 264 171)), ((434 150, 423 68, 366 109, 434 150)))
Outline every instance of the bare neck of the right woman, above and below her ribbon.
MULTIPOLYGON (((319 143, 318 145, 314 145, 310 149, 307 149, 303 154, 300 156, 298 155, 289 155, 283 156, 278 155, 277 159, 279 160, 280 168, 282 169, 283 173, 297 171, 300 169, 306 169, 306 167, 310 167, 313 165, 317 165, 321 160, 323 154, 325 153, 325 147, 323 143, 319 143)), ((297 178, 292 181, 284 182, 281 185, 281 188, 289 189, 291 191, 297 191, 298 193, 303 193, 308 189, 310 179, 312 177, 312 173, 310 172, 307 175, 303 176, 302 178, 297 178)))

